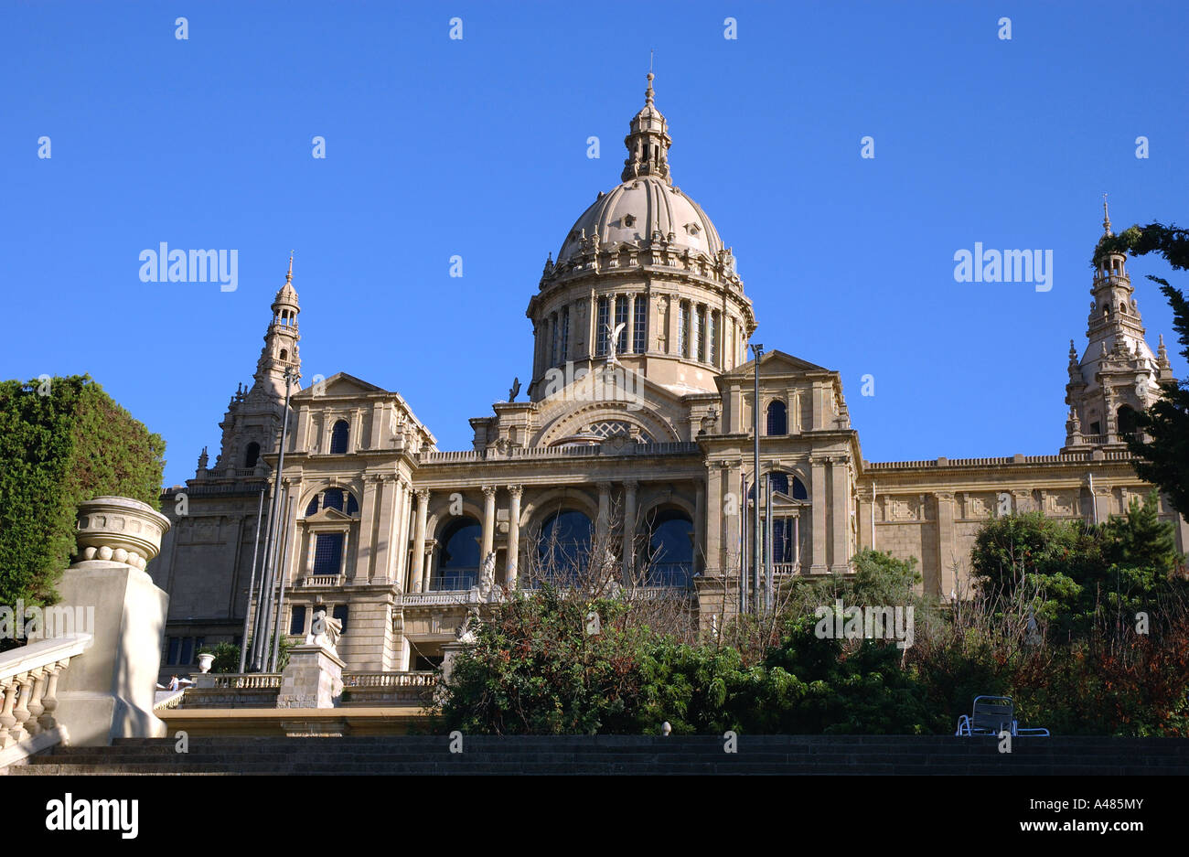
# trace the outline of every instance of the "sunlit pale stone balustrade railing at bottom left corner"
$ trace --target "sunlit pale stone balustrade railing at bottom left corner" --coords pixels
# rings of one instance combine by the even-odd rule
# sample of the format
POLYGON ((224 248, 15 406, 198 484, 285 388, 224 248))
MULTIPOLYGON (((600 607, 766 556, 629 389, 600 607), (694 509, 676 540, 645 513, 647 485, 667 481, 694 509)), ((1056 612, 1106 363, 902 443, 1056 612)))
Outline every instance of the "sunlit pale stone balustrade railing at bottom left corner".
POLYGON ((89 634, 43 639, 0 655, 0 768, 59 743, 58 678, 90 648, 89 634))

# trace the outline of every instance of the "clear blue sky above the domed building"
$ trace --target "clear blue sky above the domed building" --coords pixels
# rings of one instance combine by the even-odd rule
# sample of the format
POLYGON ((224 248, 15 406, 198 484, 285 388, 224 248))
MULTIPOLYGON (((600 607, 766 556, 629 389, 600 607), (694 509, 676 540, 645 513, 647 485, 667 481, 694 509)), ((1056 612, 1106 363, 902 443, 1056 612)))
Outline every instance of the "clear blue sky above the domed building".
MULTIPOLYGON (((1187 32, 1183 2, 6 1, 0 376, 89 372, 180 483, 295 247, 306 378, 397 390, 470 448, 528 382, 524 308, 618 182, 655 48, 675 183, 734 246, 756 338, 842 373, 864 456, 1051 454, 1101 194, 1116 229, 1189 221, 1187 32), (161 241, 238 250, 238 290, 141 283, 161 241), (956 283, 975 241, 1052 250, 1052 290, 956 283)), ((1174 345, 1143 277, 1166 266, 1131 272, 1174 345)))

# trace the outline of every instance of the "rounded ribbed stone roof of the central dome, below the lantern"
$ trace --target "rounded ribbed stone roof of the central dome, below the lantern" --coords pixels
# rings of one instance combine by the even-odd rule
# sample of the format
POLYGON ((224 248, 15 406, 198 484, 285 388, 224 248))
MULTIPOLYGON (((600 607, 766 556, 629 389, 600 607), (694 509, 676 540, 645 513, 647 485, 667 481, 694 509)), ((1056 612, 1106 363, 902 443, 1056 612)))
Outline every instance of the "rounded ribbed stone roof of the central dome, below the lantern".
POLYGON ((592 237, 598 238, 604 250, 621 242, 640 246, 658 238, 678 252, 688 248, 711 259, 723 250, 718 231, 702 207, 680 188, 656 176, 629 178, 599 194, 566 235, 558 264, 581 252, 592 237))

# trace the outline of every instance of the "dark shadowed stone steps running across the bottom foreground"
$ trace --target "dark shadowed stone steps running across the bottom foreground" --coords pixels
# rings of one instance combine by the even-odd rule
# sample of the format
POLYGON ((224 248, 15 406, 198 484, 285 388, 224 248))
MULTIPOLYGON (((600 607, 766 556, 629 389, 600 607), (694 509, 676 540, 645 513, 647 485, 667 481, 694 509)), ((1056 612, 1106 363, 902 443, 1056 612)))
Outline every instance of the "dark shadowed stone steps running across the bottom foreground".
POLYGON ((1189 739, 951 736, 124 738, 57 746, 8 774, 1189 774, 1189 739))

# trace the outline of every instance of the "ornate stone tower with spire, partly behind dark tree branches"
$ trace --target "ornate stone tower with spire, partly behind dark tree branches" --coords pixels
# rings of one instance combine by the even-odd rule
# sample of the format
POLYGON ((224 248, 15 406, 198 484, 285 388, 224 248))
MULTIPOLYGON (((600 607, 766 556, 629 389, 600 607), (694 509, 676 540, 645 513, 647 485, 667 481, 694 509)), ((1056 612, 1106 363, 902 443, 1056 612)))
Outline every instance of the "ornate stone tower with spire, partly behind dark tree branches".
MULTIPOLYGON (((1111 215, 1102 200, 1103 237, 1109 238, 1111 215)), ((1122 447, 1134 431, 1134 415, 1159 395, 1159 382, 1172 377, 1164 338, 1158 355, 1144 339, 1127 257, 1107 253, 1094 270, 1087 346, 1081 359, 1069 341, 1069 383, 1065 385, 1065 446, 1062 452, 1092 447, 1122 447)))

